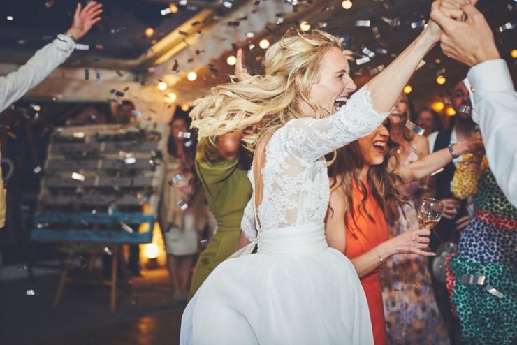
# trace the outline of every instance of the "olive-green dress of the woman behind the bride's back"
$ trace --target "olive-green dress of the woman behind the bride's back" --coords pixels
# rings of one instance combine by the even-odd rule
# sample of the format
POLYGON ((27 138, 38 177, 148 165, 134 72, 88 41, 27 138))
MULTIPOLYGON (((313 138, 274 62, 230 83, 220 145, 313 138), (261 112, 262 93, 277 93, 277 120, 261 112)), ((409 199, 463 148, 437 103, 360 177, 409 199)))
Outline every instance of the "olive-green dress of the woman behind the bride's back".
POLYGON ((192 276, 189 298, 214 268, 237 248, 242 214, 252 197, 247 171, 238 167, 239 157, 225 159, 219 154, 217 140, 199 140, 196 147, 196 172, 201 179, 208 207, 217 219, 217 232, 199 255, 192 276))

